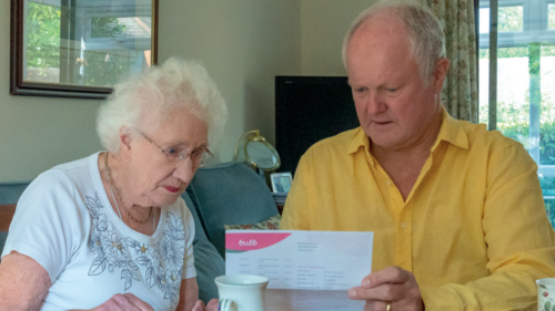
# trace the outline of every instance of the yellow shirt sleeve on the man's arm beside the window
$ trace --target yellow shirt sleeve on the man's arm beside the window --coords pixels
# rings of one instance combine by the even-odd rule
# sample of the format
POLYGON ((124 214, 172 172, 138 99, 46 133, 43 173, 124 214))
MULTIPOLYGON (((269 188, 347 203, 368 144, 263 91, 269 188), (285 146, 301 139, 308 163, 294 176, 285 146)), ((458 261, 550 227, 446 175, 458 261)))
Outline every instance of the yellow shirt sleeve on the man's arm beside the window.
POLYGON ((536 310, 535 280, 555 277, 555 234, 536 172, 519 144, 491 156, 482 219, 491 274, 421 287, 426 310, 536 310))

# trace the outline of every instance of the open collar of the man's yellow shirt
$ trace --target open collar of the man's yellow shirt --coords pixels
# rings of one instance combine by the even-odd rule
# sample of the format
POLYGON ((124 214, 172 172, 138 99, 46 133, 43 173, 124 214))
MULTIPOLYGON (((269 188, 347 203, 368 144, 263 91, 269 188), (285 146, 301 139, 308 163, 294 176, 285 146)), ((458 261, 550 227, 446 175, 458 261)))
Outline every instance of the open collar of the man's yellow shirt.
MULTIPOLYGON (((463 126, 461 125, 460 122, 454 120, 445 110, 444 106, 442 106, 442 126, 440 128, 440 134, 437 135, 437 139, 435 141, 435 144, 432 147, 432 152, 435 151, 435 148, 440 145, 442 141, 445 141, 447 143, 451 143, 460 148, 467 149, 468 148, 468 137, 466 136, 466 133, 463 129, 463 126)), ((359 132, 355 134, 353 137, 353 141, 351 141, 351 144, 349 145, 349 154, 354 154, 359 149, 363 148, 366 153, 369 153, 370 149, 370 139, 369 136, 366 136, 366 133, 362 129, 362 127, 359 127, 359 132)), ((371 158, 373 162, 373 157, 367 154, 367 156, 371 158)))

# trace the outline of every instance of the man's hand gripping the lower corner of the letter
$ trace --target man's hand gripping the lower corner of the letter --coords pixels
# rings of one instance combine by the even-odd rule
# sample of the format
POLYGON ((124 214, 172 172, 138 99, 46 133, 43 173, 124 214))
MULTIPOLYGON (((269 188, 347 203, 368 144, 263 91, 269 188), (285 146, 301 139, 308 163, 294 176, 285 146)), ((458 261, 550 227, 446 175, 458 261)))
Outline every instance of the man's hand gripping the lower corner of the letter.
POLYGON ((364 311, 385 311, 387 302, 394 311, 422 311, 418 283, 414 274, 398 267, 387 267, 362 279, 362 287, 349 290, 349 298, 366 300, 364 311))

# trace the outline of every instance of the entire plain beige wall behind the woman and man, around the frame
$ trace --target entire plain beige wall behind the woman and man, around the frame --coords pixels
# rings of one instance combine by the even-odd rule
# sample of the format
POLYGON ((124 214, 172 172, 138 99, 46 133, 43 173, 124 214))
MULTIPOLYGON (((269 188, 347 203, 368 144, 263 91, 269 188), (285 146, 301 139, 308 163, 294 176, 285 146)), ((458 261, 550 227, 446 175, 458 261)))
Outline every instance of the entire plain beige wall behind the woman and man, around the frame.
MULTIPOLYGON (((341 42, 369 0, 161 0, 159 60, 198 59, 230 110, 219 160, 258 128, 274 142, 275 75, 344 75, 341 42)), ((101 148, 101 101, 9 95, 10 4, 0 4, 0 182, 34 178, 101 148)))

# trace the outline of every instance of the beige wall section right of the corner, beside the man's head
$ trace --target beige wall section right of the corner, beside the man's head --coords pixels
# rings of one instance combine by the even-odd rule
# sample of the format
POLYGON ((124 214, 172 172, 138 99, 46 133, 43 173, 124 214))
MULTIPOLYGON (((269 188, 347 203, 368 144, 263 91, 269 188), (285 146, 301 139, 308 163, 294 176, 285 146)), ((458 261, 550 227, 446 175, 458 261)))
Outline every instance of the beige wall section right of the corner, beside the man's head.
POLYGON ((303 75, 346 75, 341 60, 351 22, 375 0, 302 0, 301 62, 303 75))

